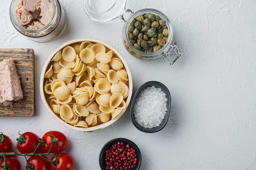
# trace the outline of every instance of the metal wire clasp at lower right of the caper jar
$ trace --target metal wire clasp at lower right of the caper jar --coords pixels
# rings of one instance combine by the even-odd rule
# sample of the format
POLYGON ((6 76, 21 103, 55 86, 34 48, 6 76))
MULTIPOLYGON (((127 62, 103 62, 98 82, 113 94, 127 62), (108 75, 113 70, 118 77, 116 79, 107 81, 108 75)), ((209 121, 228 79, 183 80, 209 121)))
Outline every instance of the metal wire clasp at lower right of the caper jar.
POLYGON ((171 45, 168 46, 168 48, 162 53, 163 58, 166 62, 170 63, 171 65, 173 65, 175 62, 177 62, 177 60, 181 57, 181 53, 179 52, 179 49, 176 45, 171 45), (173 53, 174 52, 174 53, 173 53), (170 58, 171 54, 175 54, 176 57, 174 58, 174 60, 172 60, 170 58))

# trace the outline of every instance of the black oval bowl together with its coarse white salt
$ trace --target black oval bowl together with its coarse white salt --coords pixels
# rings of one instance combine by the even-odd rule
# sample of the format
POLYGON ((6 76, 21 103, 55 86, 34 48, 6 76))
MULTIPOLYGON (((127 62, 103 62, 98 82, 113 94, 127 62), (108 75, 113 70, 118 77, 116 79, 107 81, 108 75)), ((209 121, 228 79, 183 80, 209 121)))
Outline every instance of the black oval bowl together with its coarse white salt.
POLYGON ((166 125, 170 109, 171 95, 168 88, 157 81, 146 82, 137 89, 132 99, 132 124, 142 132, 158 132, 166 125))

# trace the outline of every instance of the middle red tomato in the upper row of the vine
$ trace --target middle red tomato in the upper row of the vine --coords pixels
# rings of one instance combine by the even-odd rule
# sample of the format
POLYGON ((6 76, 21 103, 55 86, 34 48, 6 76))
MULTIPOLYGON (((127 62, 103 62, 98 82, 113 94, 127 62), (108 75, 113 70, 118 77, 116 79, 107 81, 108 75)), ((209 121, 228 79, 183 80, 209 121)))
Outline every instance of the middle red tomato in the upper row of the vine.
MULTIPOLYGON (((25 142, 18 145, 18 151, 20 153, 32 153, 38 145, 39 137, 33 132, 25 132, 22 135, 25 135, 25 142)), ((21 139, 22 137, 20 137, 21 139)))

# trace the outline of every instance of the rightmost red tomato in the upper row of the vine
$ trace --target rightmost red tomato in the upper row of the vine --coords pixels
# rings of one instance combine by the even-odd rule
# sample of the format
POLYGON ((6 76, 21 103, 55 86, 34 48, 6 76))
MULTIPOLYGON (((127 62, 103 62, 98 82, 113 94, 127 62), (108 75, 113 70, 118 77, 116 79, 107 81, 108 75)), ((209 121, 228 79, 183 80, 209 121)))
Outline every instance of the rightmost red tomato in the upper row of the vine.
POLYGON ((49 152, 50 153, 57 153, 57 152, 62 152, 63 150, 65 150, 65 148, 67 147, 67 137, 59 131, 49 131, 46 132, 42 139, 45 139, 45 145, 42 146, 42 149, 45 153, 49 152), (58 139, 57 143, 53 144, 52 146, 52 150, 50 150, 51 145, 52 145, 52 140, 55 138, 58 139))

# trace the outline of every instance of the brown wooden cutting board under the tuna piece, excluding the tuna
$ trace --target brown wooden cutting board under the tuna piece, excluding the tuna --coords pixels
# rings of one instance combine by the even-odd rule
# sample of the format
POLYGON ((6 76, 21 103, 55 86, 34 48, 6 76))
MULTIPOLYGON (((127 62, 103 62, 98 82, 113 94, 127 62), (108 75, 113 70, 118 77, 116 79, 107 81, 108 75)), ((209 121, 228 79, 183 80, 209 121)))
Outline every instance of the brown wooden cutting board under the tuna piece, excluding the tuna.
POLYGON ((34 50, 0 49, 0 62, 13 58, 20 76, 23 99, 13 101, 13 108, 0 106, 0 117, 20 117, 35 115, 34 50))

